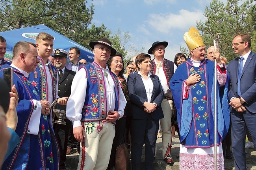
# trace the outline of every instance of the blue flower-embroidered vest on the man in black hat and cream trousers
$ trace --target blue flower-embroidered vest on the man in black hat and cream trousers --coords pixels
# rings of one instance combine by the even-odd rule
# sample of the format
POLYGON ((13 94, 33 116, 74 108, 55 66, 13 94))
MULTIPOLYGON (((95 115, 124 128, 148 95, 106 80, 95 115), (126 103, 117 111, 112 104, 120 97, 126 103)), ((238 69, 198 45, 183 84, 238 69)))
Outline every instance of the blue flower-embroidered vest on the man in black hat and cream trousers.
MULTIPOLYGON (((85 66, 87 72, 87 90, 85 94, 85 102, 82 109, 82 122, 101 121, 106 119, 106 90, 103 81, 104 74, 100 66, 93 62, 85 66)), ((117 76, 112 73, 110 75, 115 83, 115 111, 119 107, 119 81, 117 76)))

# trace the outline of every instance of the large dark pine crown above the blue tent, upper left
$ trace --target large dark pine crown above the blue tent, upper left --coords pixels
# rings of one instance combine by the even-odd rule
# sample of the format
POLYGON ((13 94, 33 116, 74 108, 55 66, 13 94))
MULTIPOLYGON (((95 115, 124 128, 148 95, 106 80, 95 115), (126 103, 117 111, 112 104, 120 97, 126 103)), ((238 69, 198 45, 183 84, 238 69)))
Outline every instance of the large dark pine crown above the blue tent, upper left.
POLYGON ((74 39, 76 31, 91 24, 93 5, 84 0, 5 0, 0 3, 0 31, 9 31, 38 24, 74 39))

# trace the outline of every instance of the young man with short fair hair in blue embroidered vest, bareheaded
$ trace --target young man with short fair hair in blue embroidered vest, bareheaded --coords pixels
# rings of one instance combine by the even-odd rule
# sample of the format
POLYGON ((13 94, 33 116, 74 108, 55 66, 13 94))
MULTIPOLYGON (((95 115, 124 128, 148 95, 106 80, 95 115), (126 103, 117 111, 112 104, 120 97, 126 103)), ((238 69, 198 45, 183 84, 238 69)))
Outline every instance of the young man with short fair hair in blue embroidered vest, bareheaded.
MULTIPOLYGON (((53 40, 48 33, 39 33, 35 38, 39 63, 34 72, 30 73, 30 81, 39 91, 42 100, 52 103, 57 100, 58 104, 67 104, 68 97, 59 98, 57 69, 53 66, 49 56, 53 51, 53 40)), ((50 114, 50 119, 52 114, 50 114)))

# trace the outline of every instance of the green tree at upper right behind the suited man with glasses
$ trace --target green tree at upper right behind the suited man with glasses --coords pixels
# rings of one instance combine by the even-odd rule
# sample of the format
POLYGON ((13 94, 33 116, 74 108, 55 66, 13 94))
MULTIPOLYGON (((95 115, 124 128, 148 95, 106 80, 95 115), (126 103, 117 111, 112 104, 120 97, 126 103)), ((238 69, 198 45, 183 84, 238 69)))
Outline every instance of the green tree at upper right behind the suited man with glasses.
POLYGON ((204 16, 207 20, 196 24, 198 30, 202 31, 206 49, 213 46, 213 37, 216 33, 221 33, 219 49, 228 61, 237 57, 232 49, 234 35, 248 33, 252 38, 252 48, 255 48, 256 5, 253 0, 244 3, 241 3, 241 0, 228 0, 225 6, 223 2, 213 0, 206 7, 204 16))

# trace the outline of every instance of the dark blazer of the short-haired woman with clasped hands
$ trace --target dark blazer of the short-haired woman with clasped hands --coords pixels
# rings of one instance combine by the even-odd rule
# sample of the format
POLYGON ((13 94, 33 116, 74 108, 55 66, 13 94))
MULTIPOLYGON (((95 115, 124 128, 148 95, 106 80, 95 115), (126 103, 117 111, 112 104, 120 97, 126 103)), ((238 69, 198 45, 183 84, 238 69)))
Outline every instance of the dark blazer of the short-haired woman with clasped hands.
POLYGON ((145 86, 141 79, 141 75, 138 72, 130 74, 127 79, 129 97, 132 102, 132 118, 133 119, 145 119, 147 114, 155 120, 163 118, 163 111, 161 108, 161 102, 163 101, 163 89, 160 80, 157 75, 150 75, 153 82, 153 92, 151 96, 151 101, 147 101, 147 93, 145 86), (147 113, 144 111, 143 103, 147 101, 150 103, 155 102, 158 108, 152 113, 147 113))

